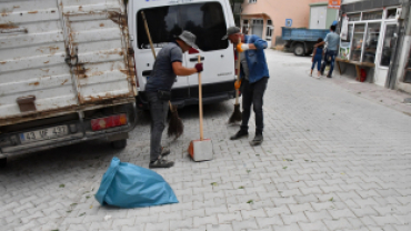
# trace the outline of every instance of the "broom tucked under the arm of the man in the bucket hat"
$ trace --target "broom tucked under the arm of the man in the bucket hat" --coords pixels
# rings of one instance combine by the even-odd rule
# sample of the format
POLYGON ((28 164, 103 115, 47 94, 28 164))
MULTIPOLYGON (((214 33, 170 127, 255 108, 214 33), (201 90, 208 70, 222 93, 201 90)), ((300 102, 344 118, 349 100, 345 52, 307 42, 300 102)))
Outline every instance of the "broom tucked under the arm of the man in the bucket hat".
MULTIPOLYGON (((142 19, 144 21, 144 27, 146 27, 146 32, 149 38, 150 47, 151 47, 151 52, 152 56, 154 57, 156 60, 156 51, 154 51, 154 46, 152 44, 151 36, 150 36, 150 30, 149 30, 149 24, 147 23, 146 14, 144 11, 141 11, 142 19)), ((181 119, 179 118, 179 113, 177 112, 177 107, 171 104, 171 101, 169 101, 169 107, 171 111, 171 118, 169 121, 169 130, 167 134, 169 137, 174 135, 174 140, 179 139, 181 134, 184 131, 184 124, 182 123, 181 119)))

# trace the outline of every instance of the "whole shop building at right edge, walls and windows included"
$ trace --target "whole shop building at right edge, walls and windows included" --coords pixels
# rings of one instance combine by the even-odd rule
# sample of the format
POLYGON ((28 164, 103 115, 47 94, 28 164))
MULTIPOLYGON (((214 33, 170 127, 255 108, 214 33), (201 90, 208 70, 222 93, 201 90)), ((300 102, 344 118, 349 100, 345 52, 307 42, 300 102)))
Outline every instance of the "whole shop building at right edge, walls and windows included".
POLYGON ((339 57, 349 62, 342 69, 354 73, 350 62, 367 66, 370 82, 411 92, 409 12, 409 0, 343 0, 348 37, 339 57))

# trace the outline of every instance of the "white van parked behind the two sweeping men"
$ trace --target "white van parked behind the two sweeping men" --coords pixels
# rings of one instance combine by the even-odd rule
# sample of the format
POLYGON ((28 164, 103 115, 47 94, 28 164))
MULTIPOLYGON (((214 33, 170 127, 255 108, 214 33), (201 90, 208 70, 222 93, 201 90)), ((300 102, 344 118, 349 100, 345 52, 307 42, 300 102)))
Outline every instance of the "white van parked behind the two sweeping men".
MULTIPOLYGON (((134 49, 139 108, 147 108, 146 83, 154 64, 141 11, 144 11, 156 52, 182 30, 197 36, 200 53, 186 52, 182 64, 192 68, 201 56, 204 103, 235 97, 233 46, 221 40, 227 28, 234 24, 229 0, 132 0, 128 6, 128 23, 132 34, 130 44, 134 49)), ((171 92, 173 104, 180 108, 198 104, 198 74, 178 77, 171 92)))

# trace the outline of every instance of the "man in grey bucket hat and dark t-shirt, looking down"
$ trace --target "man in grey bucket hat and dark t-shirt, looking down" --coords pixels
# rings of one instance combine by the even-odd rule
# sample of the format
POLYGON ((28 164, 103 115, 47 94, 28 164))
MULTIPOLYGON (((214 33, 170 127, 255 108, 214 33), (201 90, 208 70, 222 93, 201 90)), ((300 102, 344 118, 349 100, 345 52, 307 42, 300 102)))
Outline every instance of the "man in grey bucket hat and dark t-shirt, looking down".
POLYGON ((169 112, 171 87, 177 76, 186 77, 202 71, 202 63, 194 68, 182 67, 182 53, 190 48, 197 48, 196 36, 183 31, 174 41, 164 46, 157 54, 153 70, 146 84, 146 96, 151 112, 151 138, 150 138, 150 168, 170 168, 173 161, 164 160, 170 153, 169 149, 161 147, 161 137, 166 128, 166 119, 169 112))

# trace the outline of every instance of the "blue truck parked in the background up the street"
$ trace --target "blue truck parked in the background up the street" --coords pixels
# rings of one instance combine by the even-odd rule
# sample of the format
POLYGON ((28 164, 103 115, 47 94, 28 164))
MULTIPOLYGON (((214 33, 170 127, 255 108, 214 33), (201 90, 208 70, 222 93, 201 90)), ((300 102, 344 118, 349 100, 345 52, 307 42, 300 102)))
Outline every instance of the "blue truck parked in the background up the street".
POLYGON ((330 30, 285 28, 282 27, 282 40, 285 48, 291 49, 295 56, 310 56, 319 38, 325 39, 330 30))

